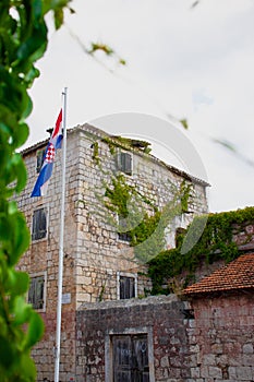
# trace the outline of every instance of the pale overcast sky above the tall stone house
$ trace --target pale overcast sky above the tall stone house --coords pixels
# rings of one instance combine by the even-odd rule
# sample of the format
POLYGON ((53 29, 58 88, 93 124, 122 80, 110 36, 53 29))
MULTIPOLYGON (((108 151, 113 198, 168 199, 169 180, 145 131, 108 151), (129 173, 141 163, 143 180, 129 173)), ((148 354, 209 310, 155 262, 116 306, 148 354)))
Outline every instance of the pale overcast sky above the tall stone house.
MULTIPOLYGON (((254 1, 202 0, 191 9, 192 3, 74 0, 76 13, 66 13, 66 26, 50 32, 47 53, 37 63, 41 75, 31 91, 27 144, 47 138, 66 86, 68 127, 96 122, 109 133, 129 134, 128 126, 101 118, 122 112, 173 122, 206 168, 209 210, 254 205, 254 165, 247 163, 254 162, 254 1), (101 53, 94 60, 73 34, 86 47, 109 45, 126 65, 101 53), (186 118, 189 131, 167 115, 186 118), (213 140, 233 144, 239 155, 213 140)), ((154 138, 155 154, 167 159, 167 147, 160 150, 170 139, 167 131, 147 130, 147 136, 141 131, 141 138, 154 138)))

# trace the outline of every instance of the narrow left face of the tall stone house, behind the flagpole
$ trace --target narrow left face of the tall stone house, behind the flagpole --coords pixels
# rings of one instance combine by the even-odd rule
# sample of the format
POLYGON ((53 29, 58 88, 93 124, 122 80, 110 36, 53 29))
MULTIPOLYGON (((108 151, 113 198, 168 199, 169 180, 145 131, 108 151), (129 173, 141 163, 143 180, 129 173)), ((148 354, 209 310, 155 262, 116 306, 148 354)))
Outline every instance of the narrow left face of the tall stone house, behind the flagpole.
MULTIPOLYGON (((24 192, 17 198, 20 208, 26 217, 27 226, 32 231, 33 213, 37 208, 47 211, 47 235, 45 238, 31 242, 29 249, 21 258, 19 268, 28 272, 33 277, 45 275, 44 309, 39 309, 45 322, 45 335, 33 351, 38 373, 38 381, 53 381, 55 372, 55 346, 56 346, 56 322, 58 300, 58 272, 59 272, 59 226, 60 226, 60 202, 61 202, 61 151, 57 153, 53 174, 50 178, 48 193, 44 198, 31 198, 34 183, 38 177, 36 172, 36 152, 46 147, 36 145, 34 150, 24 154, 27 168, 27 184, 24 192)), ((75 156, 75 140, 69 140, 69 160, 66 172, 70 174, 76 166, 78 157, 75 156)), ((75 253, 77 226, 72 215, 72 206, 77 200, 77 188, 74 179, 66 183, 65 217, 63 253, 63 296, 69 296, 69 302, 62 306, 62 335, 61 335, 61 365, 60 380, 69 381, 69 375, 75 371, 75 309, 76 309, 76 284, 75 284, 75 253)))

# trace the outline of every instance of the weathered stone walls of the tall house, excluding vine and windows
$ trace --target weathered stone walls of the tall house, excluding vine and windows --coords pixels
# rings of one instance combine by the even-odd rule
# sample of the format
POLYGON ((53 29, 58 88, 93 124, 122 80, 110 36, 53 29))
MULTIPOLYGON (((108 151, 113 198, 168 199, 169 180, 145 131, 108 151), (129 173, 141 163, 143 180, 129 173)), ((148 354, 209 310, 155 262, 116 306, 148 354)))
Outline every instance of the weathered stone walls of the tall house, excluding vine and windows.
MULTIPOLYGON (((149 279, 144 275, 145 264, 133 261, 133 248, 126 241, 119 240, 116 227, 110 224, 111 216, 100 203, 105 194, 105 184, 110 184, 112 176, 118 172, 116 155, 119 151, 132 154, 132 175, 124 174, 126 182, 140 194, 153 200, 159 208, 172 200, 172 190, 179 189, 183 180, 193 184, 193 198, 189 203, 191 213, 182 214, 181 218, 171 222, 173 229, 179 224, 188 225, 195 214, 207 212, 207 183, 167 166, 140 150, 129 145, 124 147, 124 143, 117 145, 116 152, 112 153, 107 139, 109 136, 106 133, 90 126, 77 127, 68 133, 60 365, 60 381, 64 382, 76 375, 75 312, 78 307, 84 302, 118 299, 121 275, 132 275, 135 278, 136 296, 144 297, 150 288, 149 279)), ((44 208, 47 220, 45 237, 32 241, 19 265, 32 277, 44 277, 44 297, 38 311, 45 320, 46 333, 34 350, 38 381, 53 380, 61 199, 60 151, 57 154, 47 196, 29 196, 38 176, 36 155, 46 144, 43 142, 24 151, 28 181, 26 189, 17 198, 31 231, 36 210, 44 208)), ((171 237, 173 234, 170 234, 171 237)), ((170 244, 172 238, 168 240, 168 246, 170 244)))

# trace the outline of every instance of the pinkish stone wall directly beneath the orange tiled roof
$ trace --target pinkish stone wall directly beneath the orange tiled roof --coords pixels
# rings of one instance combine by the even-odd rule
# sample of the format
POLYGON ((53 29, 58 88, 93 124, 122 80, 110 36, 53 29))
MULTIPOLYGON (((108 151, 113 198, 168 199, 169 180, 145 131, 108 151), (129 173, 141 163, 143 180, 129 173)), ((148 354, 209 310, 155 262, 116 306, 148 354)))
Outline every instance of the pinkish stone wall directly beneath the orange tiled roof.
POLYGON ((254 380, 254 301, 252 293, 195 298, 193 382, 254 380))

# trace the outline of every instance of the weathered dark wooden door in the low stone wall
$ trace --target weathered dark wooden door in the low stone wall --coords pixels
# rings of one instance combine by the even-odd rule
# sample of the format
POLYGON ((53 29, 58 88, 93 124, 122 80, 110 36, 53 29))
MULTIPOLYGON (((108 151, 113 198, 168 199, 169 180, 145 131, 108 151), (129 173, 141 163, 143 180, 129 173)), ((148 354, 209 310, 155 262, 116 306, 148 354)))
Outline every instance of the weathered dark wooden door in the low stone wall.
POLYGON ((113 382, 149 382, 147 335, 117 335, 113 345, 113 382))

